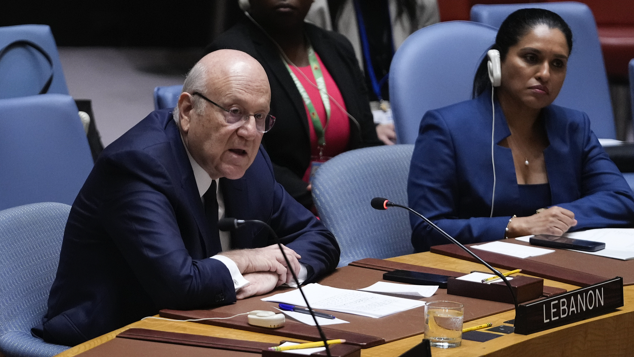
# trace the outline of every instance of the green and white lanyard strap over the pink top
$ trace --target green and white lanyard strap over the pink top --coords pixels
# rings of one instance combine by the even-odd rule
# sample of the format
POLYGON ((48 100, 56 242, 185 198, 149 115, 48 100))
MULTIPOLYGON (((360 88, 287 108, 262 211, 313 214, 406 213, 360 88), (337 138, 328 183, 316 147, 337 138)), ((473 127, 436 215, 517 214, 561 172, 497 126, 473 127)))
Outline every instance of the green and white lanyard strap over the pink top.
MULTIPOLYGON (((317 88, 319 88, 321 102, 323 102, 323 107, 324 109, 326 109, 326 126, 328 126, 328 121, 330 120, 330 98, 328 98, 326 82, 323 79, 321 67, 315 55, 315 51, 313 50, 313 46, 311 45, 308 46, 308 62, 311 65, 311 70, 313 71, 313 76, 315 77, 317 88)), ((306 104, 306 107, 308 108, 311 121, 313 121, 313 128, 315 130, 315 134, 317 135, 317 144, 318 146, 323 148, 323 146, 326 145, 325 129, 323 128, 323 126, 321 126, 321 120, 319 118, 319 115, 317 114, 317 111, 315 110, 313 102, 308 96, 306 88, 304 88, 297 76, 295 76, 295 73, 292 71, 292 69, 290 69, 290 65, 288 65, 286 61, 284 61, 284 64, 286 65, 288 74, 290 74, 290 77, 292 77, 293 81, 295 82, 295 86, 297 87, 297 90, 299 90, 299 94, 304 100, 304 104, 306 104)))

